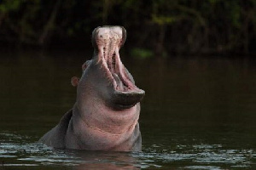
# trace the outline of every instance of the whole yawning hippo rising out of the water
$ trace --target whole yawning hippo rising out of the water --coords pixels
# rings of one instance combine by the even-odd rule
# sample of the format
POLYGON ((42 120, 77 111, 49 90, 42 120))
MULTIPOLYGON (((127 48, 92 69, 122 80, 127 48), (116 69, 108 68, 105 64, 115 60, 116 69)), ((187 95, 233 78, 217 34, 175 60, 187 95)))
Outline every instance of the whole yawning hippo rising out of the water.
POLYGON ((82 65, 73 109, 39 142, 74 150, 140 151, 138 118, 145 92, 137 88, 122 64, 119 49, 126 39, 122 26, 97 27, 92 32, 94 54, 82 65))

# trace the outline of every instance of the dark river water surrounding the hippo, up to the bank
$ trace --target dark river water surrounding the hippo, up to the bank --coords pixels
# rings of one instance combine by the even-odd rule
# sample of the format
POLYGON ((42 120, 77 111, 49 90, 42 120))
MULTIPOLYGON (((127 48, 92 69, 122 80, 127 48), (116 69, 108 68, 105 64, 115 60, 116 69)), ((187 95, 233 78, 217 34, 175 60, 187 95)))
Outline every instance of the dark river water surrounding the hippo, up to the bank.
POLYGON ((75 101, 90 53, 0 52, 0 169, 256 169, 253 59, 132 59, 146 91, 143 152, 51 150, 38 139, 75 101))

